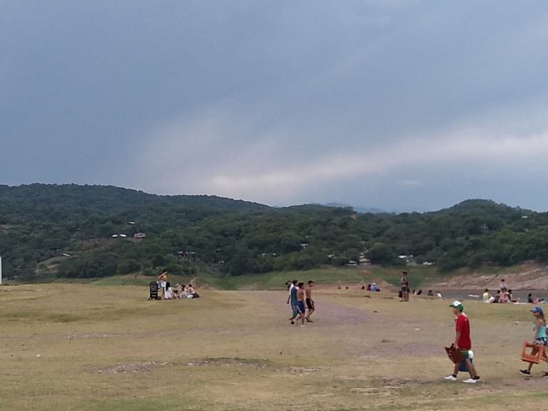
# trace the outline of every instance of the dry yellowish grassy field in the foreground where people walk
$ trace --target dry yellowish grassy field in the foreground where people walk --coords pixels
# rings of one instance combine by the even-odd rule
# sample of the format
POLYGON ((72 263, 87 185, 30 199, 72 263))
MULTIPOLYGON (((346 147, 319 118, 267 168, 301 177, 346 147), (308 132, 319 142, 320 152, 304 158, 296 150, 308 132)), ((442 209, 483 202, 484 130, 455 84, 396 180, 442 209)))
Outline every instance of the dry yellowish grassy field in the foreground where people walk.
POLYGON ((447 300, 322 288, 315 322, 300 328, 282 290, 199 292, 149 302, 146 286, 0 287, 0 409, 498 411, 548 400, 545 365, 518 372, 527 305, 466 303, 483 380, 467 385, 443 379, 447 300))

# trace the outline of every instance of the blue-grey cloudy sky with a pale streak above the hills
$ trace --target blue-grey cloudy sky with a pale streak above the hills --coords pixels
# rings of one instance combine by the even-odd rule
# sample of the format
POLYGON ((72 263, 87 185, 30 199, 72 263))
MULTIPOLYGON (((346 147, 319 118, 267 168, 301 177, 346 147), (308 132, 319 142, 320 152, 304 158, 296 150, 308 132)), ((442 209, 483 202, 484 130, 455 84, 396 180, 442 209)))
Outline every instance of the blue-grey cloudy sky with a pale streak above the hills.
POLYGON ((548 211, 546 1, 0 0, 0 184, 548 211))

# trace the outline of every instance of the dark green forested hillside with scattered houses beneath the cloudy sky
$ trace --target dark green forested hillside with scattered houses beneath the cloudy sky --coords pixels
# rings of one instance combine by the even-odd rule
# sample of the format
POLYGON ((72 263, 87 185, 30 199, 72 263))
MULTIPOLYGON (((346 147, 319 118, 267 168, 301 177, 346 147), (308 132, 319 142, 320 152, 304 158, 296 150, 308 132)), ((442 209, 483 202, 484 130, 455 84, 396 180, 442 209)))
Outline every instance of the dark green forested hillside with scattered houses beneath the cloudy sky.
POLYGON ((264 273, 435 263, 441 270, 548 262, 548 213, 469 200, 433 213, 156 196, 112 186, 0 186, 4 277, 264 273), (143 238, 134 238, 138 234, 143 238))

